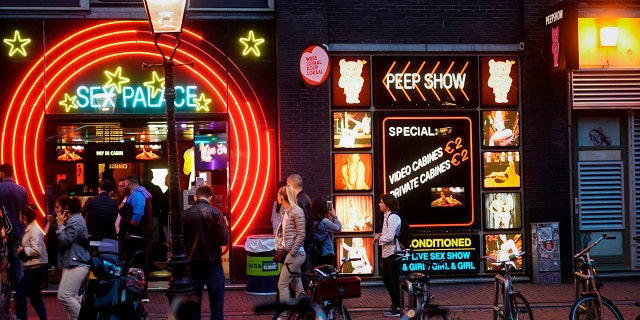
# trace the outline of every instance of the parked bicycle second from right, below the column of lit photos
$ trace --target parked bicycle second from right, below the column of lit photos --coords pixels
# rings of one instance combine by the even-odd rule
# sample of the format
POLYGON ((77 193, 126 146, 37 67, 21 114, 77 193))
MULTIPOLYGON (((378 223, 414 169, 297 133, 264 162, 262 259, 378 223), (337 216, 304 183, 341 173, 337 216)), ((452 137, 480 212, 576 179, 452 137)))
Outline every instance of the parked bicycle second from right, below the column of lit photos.
POLYGON ((520 291, 515 291, 511 280, 513 261, 522 257, 524 252, 511 254, 506 260, 497 260, 491 256, 484 256, 481 260, 492 261, 493 265, 500 266, 501 273, 496 274, 494 280, 493 296, 493 320, 533 320, 533 312, 529 301, 520 291), (502 299, 500 299, 502 297, 502 299), (500 304, 502 302, 502 304, 500 304))

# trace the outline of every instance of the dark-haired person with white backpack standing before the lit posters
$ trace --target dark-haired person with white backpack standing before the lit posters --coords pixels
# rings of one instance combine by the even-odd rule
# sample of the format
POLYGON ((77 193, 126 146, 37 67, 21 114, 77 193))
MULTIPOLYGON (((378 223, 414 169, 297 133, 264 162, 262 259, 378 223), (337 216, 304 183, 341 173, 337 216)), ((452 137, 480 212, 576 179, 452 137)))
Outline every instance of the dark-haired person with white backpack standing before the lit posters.
POLYGON ((385 317, 400 316, 400 263, 398 254, 400 246, 396 236, 400 232, 401 219, 398 215, 400 204, 392 194, 385 193, 380 196, 378 204, 380 211, 384 213, 382 218, 382 232, 377 233, 373 242, 378 242, 382 251, 382 282, 389 292, 391 308, 382 315, 385 317))

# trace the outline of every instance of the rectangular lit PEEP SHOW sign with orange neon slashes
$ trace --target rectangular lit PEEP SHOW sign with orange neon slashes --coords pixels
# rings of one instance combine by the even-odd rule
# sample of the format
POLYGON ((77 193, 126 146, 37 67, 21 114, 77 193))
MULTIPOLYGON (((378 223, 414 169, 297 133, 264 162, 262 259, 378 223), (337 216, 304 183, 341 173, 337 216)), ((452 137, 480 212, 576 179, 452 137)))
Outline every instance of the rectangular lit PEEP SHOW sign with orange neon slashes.
POLYGON ((374 57, 374 105, 475 107, 477 57, 374 57))

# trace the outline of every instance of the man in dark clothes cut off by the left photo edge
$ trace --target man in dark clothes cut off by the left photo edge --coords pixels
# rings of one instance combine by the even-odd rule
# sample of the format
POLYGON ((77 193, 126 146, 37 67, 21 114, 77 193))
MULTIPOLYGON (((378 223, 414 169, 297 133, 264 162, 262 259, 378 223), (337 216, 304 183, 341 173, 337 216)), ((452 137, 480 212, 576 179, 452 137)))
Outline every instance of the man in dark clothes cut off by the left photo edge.
POLYGON ((13 166, 8 163, 0 165, 0 204, 6 209, 6 213, 13 225, 13 233, 7 234, 7 246, 9 247, 9 281, 11 288, 15 289, 22 280, 22 260, 18 258, 18 246, 24 234, 24 225, 20 223, 20 209, 29 204, 27 189, 13 181, 13 166))

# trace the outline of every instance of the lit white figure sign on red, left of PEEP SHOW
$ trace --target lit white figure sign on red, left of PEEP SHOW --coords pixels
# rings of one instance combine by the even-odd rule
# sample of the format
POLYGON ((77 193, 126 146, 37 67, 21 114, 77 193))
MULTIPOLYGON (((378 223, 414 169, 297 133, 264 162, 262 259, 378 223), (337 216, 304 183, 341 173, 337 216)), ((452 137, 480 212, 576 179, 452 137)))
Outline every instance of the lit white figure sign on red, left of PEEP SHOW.
POLYGON ((331 57, 331 99, 334 107, 371 105, 369 57, 331 57))

